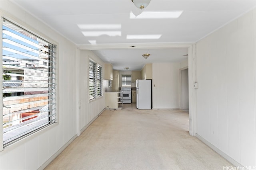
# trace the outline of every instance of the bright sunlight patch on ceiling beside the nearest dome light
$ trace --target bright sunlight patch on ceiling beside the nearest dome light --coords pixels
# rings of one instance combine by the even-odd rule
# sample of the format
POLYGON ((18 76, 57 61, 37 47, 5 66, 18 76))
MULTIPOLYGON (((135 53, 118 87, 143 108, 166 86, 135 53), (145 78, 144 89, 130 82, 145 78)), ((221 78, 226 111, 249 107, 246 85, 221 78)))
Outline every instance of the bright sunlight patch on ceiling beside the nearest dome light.
POLYGON ((138 16, 135 16, 133 12, 130 12, 130 19, 168 19, 168 18, 179 18, 183 11, 172 11, 172 12, 142 12, 138 16))

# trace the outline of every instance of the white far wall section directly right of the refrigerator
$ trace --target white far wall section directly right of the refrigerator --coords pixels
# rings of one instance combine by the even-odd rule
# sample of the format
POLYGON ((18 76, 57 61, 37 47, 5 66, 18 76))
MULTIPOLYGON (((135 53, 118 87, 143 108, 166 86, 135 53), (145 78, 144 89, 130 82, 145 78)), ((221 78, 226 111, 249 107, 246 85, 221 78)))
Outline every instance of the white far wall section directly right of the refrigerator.
POLYGON ((180 99, 180 63, 152 64, 153 109, 177 109, 180 99), (155 87, 154 87, 155 85, 155 87))

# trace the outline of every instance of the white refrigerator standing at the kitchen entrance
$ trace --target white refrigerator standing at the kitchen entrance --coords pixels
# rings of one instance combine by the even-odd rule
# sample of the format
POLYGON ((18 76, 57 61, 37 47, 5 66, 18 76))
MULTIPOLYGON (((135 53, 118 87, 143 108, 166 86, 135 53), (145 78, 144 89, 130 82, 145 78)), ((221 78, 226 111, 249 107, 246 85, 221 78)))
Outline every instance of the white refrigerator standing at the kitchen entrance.
POLYGON ((151 80, 136 80, 137 109, 151 109, 151 80))

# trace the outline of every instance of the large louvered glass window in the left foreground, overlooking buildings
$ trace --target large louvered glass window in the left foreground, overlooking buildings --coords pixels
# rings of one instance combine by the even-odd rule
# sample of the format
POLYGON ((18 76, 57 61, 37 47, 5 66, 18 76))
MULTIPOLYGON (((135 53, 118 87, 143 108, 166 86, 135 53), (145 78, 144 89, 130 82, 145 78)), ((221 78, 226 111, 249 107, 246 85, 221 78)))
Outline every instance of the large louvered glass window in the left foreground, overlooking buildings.
POLYGON ((54 45, 2 19, 3 145, 56 121, 54 45))

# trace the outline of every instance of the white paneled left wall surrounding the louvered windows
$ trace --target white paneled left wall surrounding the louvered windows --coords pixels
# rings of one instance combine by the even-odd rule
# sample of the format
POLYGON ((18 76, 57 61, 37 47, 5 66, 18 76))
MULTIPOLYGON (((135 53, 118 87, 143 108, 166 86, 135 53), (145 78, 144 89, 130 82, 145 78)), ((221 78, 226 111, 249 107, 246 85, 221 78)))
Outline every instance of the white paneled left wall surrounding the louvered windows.
MULTIPOLYGON (((0 169, 38 169, 44 168, 70 141, 80 129, 90 122, 104 107, 104 97, 93 102, 83 95, 88 94, 87 70, 79 74, 84 79, 79 79, 78 66, 88 64, 88 56, 96 59, 92 53, 82 52, 76 55, 76 45, 44 25, 24 10, 18 8, 11 1, 1 0, 1 16, 11 21, 26 25, 30 31, 42 35, 51 43, 57 44, 58 65, 58 123, 43 129, 25 139, 22 139, 0 152, 0 169), (81 60, 83 63, 76 62, 81 60), (79 85, 82 98, 78 101, 76 87, 79 85), (77 116, 77 103, 80 102, 80 121, 77 116), (79 124, 81 123, 81 125, 79 124), (53 156, 53 157, 52 157, 53 156)), ((1 33, 2 34, 2 33, 1 33)), ((101 61, 99 61, 102 63, 101 61)), ((87 67, 83 66, 87 69, 87 67)))

